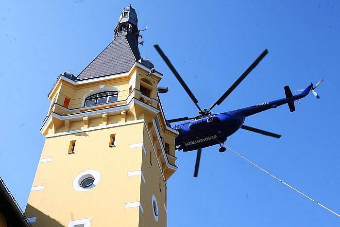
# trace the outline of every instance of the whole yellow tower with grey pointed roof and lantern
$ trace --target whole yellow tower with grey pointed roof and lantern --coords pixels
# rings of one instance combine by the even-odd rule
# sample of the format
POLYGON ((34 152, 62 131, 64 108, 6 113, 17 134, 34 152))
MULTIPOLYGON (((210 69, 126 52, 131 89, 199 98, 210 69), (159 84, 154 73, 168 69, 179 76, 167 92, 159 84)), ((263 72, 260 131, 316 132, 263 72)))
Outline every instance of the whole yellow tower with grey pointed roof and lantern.
POLYGON ((34 227, 165 227, 174 139, 157 85, 140 57, 136 11, 125 7, 113 41, 48 97, 45 144, 25 211, 34 227))

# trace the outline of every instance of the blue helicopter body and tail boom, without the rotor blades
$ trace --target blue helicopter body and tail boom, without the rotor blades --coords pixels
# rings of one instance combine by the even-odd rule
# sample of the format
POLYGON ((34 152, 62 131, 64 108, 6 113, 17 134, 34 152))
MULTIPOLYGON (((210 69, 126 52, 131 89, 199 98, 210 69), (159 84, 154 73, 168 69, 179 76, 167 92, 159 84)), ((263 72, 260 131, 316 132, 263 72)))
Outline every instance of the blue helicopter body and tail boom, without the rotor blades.
POLYGON ((223 143, 243 125, 246 117, 271 109, 279 105, 289 104, 305 97, 312 89, 306 87, 298 95, 292 95, 272 102, 265 102, 225 113, 199 117, 193 121, 175 126, 179 135, 175 139, 176 150, 192 151, 223 143))

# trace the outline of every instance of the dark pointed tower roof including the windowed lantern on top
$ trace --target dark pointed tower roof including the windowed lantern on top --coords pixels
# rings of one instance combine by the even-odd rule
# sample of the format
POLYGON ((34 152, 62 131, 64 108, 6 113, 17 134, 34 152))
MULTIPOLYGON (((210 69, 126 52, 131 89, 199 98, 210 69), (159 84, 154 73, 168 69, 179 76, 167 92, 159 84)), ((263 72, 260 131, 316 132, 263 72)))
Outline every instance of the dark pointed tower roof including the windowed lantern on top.
POLYGON ((120 14, 113 41, 77 76, 84 80, 127 72, 138 61, 137 14, 129 5, 120 14))

